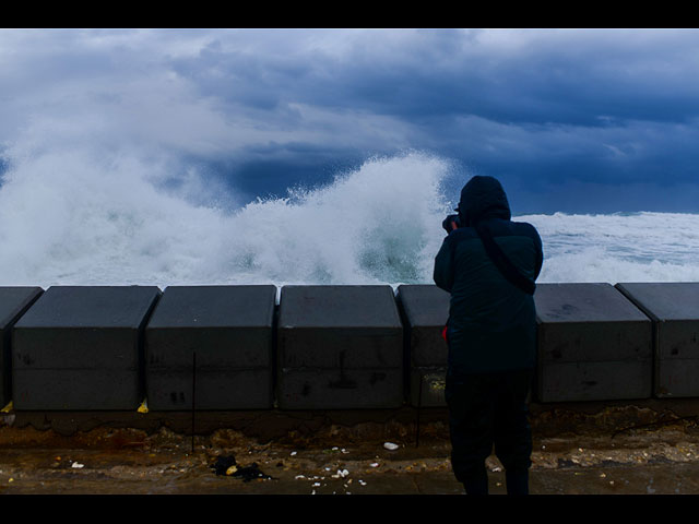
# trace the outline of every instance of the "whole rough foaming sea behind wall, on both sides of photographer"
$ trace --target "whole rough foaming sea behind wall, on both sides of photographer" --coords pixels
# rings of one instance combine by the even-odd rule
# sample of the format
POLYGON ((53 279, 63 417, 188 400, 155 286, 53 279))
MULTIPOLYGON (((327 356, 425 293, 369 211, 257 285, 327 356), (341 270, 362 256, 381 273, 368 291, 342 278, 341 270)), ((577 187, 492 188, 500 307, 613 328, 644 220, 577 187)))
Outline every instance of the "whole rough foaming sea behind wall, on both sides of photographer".
MULTIPOLYGON (((168 163, 14 158, 0 186, 0 285, 431 283, 453 180, 449 162, 413 153, 245 202, 168 163)), ((697 214, 513 219, 542 236, 538 282, 699 281, 697 214)))

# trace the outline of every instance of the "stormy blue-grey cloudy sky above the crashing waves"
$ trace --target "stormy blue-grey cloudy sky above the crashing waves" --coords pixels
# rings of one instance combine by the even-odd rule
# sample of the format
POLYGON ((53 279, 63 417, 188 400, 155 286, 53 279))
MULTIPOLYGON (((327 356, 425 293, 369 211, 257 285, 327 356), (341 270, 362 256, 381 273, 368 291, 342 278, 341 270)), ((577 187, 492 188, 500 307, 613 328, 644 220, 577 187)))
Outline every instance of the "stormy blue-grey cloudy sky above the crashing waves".
POLYGON ((137 155, 245 200, 419 151, 516 214, 699 213, 695 29, 2 29, 0 71, 0 171, 137 155))

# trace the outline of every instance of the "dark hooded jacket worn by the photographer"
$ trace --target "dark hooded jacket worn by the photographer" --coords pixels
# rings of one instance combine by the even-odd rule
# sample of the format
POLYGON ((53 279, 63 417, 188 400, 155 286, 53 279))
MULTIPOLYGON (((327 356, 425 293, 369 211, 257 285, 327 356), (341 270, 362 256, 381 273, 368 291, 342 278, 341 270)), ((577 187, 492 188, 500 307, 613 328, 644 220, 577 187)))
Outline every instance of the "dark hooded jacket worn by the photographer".
POLYGON ((535 281, 543 262, 541 238, 534 226, 510 217, 500 182, 493 177, 473 177, 461 191, 460 227, 445 239, 435 259, 435 283, 451 294, 449 366, 461 372, 534 367, 534 298, 503 276, 474 227, 487 228, 519 272, 535 281))

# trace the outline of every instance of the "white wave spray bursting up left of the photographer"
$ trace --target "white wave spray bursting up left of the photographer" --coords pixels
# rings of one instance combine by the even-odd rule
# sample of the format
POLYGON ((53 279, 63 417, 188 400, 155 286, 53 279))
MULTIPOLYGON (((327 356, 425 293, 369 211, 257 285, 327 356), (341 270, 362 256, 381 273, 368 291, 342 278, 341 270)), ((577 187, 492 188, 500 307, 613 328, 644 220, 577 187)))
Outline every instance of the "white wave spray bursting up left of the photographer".
POLYGON ((372 158, 234 212, 158 188, 157 166, 44 155, 0 188, 0 285, 378 284, 431 278, 448 162, 372 158))

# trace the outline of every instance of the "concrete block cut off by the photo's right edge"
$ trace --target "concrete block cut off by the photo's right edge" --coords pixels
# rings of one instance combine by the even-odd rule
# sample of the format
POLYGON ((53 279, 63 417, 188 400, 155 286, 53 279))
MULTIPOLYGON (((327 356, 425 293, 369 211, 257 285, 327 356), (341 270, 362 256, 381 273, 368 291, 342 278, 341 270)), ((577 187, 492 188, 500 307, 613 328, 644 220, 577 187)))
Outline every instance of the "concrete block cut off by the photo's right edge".
POLYGON ((655 396, 699 396, 699 283, 616 287, 653 321, 655 396))

